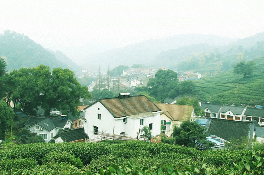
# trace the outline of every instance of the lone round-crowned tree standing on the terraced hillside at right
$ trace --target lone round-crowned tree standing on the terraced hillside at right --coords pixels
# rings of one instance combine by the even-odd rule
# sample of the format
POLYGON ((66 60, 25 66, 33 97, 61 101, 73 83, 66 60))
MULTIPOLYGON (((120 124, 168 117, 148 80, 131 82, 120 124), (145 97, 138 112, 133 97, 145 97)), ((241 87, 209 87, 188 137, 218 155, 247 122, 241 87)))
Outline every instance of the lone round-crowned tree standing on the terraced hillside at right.
POLYGON ((243 78, 247 78, 250 75, 252 75, 253 73, 252 67, 255 64, 256 63, 254 61, 249 61, 247 63, 245 61, 240 61, 236 63, 236 65, 234 66, 234 73, 243 74, 243 78))

